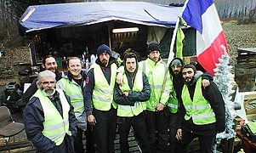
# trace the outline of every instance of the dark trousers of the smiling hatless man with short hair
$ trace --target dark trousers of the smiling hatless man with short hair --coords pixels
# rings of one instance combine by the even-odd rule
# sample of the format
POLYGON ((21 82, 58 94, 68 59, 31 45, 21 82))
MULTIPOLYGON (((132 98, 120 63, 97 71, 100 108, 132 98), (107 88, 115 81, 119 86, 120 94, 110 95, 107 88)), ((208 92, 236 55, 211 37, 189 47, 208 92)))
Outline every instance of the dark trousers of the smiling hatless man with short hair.
POLYGON ((86 139, 86 152, 87 153, 94 153, 94 135, 92 131, 92 127, 88 124, 87 130, 82 131, 81 128, 77 127, 77 137, 75 139, 75 151, 76 153, 84 153, 83 144, 82 144, 82 133, 85 134, 86 139))

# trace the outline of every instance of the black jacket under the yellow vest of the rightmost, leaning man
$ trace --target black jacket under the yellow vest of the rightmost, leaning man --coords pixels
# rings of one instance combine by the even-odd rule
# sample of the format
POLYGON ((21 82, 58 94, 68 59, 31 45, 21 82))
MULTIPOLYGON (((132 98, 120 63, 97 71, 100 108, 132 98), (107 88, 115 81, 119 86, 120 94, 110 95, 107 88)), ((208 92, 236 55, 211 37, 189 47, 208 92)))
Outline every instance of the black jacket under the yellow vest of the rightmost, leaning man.
MULTIPOLYGON (((195 78, 194 78, 195 79, 195 78)), ((196 81, 191 85, 187 85, 191 99, 193 99, 196 87, 196 81)), ((202 88, 202 95, 207 99, 215 113, 216 122, 206 124, 206 125, 196 125, 193 123, 192 119, 185 121, 185 106, 183 102, 180 103, 179 107, 179 120, 178 128, 183 128, 191 133, 196 133, 200 135, 213 136, 216 133, 223 132, 225 130, 225 102, 222 98, 219 88, 214 82, 210 82, 207 88, 202 88)))

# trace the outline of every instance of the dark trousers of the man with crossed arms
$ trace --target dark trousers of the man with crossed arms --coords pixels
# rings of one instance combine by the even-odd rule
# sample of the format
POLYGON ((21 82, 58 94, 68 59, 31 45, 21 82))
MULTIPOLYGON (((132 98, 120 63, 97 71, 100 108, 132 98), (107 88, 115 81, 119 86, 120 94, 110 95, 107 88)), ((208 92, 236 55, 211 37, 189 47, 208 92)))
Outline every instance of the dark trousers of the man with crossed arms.
POLYGON ((118 132, 120 135, 121 152, 129 152, 128 134, 131 127, 134 128, 135 137, 139 141, 139 147, 142 152, 151 152, 151 147, 146 132, 145 119, 142 116, 142 113, 140 113, 138 116, 118 118, 121 118, 122 120, 121 122, 117 122, 118 132))

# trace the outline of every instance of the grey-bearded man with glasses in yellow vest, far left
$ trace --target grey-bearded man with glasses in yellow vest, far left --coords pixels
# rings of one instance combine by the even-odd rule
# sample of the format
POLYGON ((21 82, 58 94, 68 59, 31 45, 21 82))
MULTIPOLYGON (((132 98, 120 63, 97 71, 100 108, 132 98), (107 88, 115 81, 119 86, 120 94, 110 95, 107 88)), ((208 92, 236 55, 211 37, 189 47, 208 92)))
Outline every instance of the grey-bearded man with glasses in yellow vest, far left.
POLYGON ((69 97, 55 88, 55 82, 54 72, 39 73, 37 92, 23 113, 26 135, 38 152, 75 152, 77 119, 69 97))

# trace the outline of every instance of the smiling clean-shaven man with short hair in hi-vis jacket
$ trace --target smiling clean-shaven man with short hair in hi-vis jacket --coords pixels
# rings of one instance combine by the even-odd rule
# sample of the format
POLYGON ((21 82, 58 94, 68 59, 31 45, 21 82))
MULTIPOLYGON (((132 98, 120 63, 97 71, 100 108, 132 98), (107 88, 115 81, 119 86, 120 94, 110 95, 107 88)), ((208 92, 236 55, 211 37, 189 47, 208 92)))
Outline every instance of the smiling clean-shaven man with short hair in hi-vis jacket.
POLYGON ((82 133, 86 138, 86 152, 94 152, 94 137, 92 127, 87 125, 84 109, 83 91, 85 88, 86 74, 82 71, 81 60, 78 57, 71 57, 67 63, 67 76, 57 82, 57 88, 65 91, 70 96, 71 105, 77 117, 77 137, 75 139, 75 150, 83 153, 82 133))

